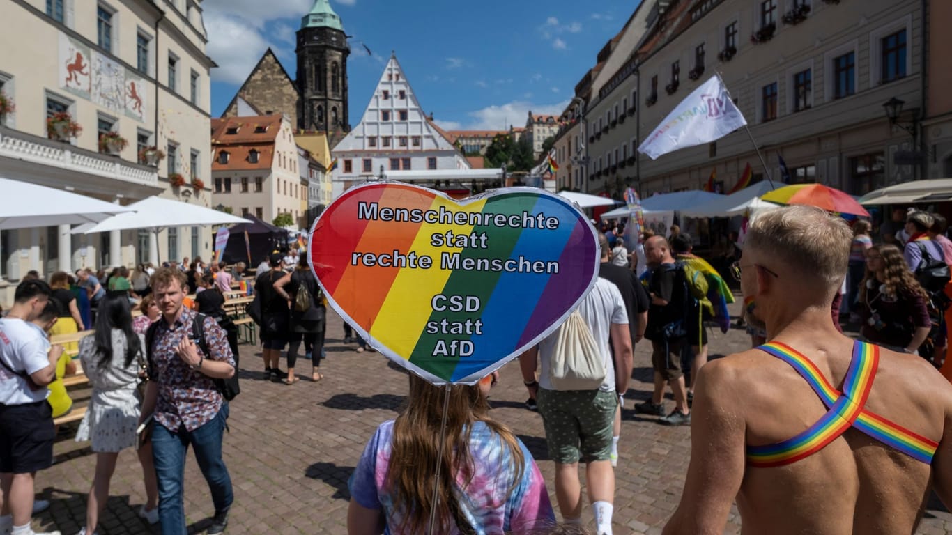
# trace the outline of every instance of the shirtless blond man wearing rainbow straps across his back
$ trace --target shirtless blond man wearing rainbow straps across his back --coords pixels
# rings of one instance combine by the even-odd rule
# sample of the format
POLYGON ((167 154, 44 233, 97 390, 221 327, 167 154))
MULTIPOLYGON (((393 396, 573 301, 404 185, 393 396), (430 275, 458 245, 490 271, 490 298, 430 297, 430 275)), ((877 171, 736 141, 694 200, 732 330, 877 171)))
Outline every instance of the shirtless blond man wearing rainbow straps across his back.
POLYGON ((735 499, 744 533, 772 535, 913 533, 931 489, 952 505, 952 386, 921 357, 859 343, 854 352, 833 327, 829 303, 849 245, 843 220, 819 208, 754 220, 741 287, 753 300, 747 321, 766 327, 770 352, 701 369, 684 495, 665 534, 723 533, 735 499), (794 367, 810 370, 806 359, 815 365, 806 375, 825 378, 817 390, 794 367), (811 433, 818 423, 828 426, 811 433))

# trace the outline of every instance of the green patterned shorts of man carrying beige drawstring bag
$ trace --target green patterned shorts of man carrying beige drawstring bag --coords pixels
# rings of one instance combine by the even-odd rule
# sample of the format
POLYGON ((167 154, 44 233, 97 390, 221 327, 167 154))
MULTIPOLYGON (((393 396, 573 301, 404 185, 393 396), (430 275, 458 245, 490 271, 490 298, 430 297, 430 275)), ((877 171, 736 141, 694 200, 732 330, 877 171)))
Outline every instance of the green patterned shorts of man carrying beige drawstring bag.
POLYGON ((548 455, 560 465, 607 461, 618 409, 615 392, 539 388, 548 455))

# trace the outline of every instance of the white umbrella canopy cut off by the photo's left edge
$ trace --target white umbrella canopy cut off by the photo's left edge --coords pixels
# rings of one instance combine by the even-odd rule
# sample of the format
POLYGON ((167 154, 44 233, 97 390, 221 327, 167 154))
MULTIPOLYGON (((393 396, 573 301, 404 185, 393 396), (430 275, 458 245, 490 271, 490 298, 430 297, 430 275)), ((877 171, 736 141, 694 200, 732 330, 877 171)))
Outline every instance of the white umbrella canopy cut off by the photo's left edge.
POLYGON ((0 178, 0 191, 3 192, 0 206, 2 230, 97 223, 133 209, 7 178, 0 178))

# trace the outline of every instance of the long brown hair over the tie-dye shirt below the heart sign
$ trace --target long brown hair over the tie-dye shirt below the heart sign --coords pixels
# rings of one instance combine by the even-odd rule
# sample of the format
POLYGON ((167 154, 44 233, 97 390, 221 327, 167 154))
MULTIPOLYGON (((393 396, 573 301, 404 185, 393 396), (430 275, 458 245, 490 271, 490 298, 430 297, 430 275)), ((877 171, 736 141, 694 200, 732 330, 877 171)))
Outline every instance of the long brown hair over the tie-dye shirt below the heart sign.
MULTIPOLYGON (((446 444, 439 489, 439 509, 436 513, 437 533, 452 531, 458 525, 459 502, 453 496, 457 474, 463 474, 465 485, 473 477, 473 459, 469 452, 469 435, 473 424, 484 422, 508 447, 510 459, 517 466, 513 487, 523 477, 525 459, 519 441, 507 426, 489 417, 489 405, 479 386, 432 386, 425 380, 409 375, 410 392, 407 406, 393 425, 393 445, 387 486, 394 496, 394 507, 406 513, 401 533, 424 533, 432 509, 433 474, 440 446, 440 425, 446 388, 449 404, 446 409, 446 444)), ((509 489, 511 493, 512 488, 509 489)), ((505 505, 505 504, 500 504, 505 505)), ((466 532, 466 531, 464 531, 466 532)))

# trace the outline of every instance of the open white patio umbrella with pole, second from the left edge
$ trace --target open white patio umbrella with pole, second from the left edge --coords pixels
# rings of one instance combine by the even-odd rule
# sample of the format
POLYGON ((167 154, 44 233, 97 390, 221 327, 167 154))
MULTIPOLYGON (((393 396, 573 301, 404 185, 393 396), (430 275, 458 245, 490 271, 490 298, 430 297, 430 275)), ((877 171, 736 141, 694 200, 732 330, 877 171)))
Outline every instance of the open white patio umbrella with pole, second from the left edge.
MULTIPOLYGON (((158 235, 160 230, 169 227, 206 227, 208 225, 251 223, 248 219, 223 211, 154 196, 132 203, 126 208, 135 211, 114 215, 91 227, 84 225, 74 228, 72 233, 91 234, 93 232, 108 232, 109 230, 146 228, 149 232, 158 235)), ((159 251, 155 248, 149 248, 149 262, 158 264, 158 256, 159 251)))

